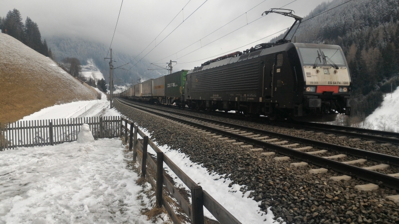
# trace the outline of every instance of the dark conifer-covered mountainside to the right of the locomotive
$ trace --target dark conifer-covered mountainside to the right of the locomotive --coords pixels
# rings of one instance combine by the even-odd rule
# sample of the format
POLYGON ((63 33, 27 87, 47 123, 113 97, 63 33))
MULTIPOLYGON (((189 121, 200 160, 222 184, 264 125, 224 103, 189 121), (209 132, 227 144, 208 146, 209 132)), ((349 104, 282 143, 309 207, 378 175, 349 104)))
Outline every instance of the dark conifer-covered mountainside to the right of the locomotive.
POLYGON ((292 41, 342 47, 352 74, 353 96, 358 102, 353 112, 365 117, 381 104, 384 93, 391 92, 391 83, 394 90, 399 85, 399 1, 352 0, 311 18, 347 1, 318 5, 304 17, 292 41))

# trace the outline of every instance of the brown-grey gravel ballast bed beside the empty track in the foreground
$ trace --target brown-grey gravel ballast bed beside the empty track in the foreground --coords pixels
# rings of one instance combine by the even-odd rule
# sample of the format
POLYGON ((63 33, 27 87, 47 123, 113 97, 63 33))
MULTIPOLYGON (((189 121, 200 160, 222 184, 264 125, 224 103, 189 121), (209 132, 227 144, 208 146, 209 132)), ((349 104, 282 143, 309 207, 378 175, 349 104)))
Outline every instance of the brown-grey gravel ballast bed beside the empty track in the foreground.
MULTIPOLYGON (((249 152, 248 149, 140 112, 118 101, 115 101, 115 108, 138 125, 147 128, 152 139, 160 145, 167 144, 171 149, 190 155, 191 161, 202 163, 209 171, 229 175, 234 183, 243 185, 242 192, 253 191, 250 197, 261 201, 260 207, 263 211, 271 207, 274 215, 282 217, 287 223, 399 222, 398 204, 385 200, 386 196, 396 195, 395 190, 380 186, 372 192, 359 192, 354 187, 368 182, 356 178, 335 182, 329 178, 343 174, 332 170, 324 174, 310 174, 309 169, 320 167, 311 164, 291 167, 290 163, 301 161, 275 161, 274 157, 281 155, 267 157, 258 152, 249 152)), ((246 121, 211 118, 232 123, 245 122, 242 125, 250 126, 247 124, 250 122, 246 121)), ((267 128, 271 131, 274 131, 273 128, 277 129, 270 125, 265 127, 264 124, 252 125, 256 128, 263 126, 261 129, 267 128)), ((281 130, 278 132, 281 133, 281 130)))

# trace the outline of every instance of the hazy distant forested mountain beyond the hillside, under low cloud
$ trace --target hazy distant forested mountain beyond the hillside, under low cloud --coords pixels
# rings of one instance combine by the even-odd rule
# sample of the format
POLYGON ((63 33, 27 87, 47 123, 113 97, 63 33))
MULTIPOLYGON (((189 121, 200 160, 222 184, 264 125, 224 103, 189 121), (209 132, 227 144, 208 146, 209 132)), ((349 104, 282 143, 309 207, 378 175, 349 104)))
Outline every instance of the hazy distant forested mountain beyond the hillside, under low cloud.
MULTIPOLYGON (((79 37, 53 36, 48 38, 46 37, 46 40, 57 61, 61 61, 66 57, 74 57, 79 59, 82 65, 85 65, 87 60, 93 59, 94 64, 100 69, 100 72, 104 74, 104 78, 107 83, 109 82, 109 60, 104 60, 108 52, 108 46, 79 37)), ((140 60, 139 57, 136 59, 134 59, 134 57, 135 56, 133 55, 124 54, 115 50, 112 51, 112 60, 116 61, 113 63, 114 68, 130 62, 131 64, 123 66, 123 68, 129 69, 136 64, 138 60, 140 60)), ((151 73, 151 75, 154 77, 147 75, 150 73, 147 70, 149 65, 150 64, 146 60, 142 60, 129 71, 116 69, 114 71, 114 83, 129 84, 135 82, 134 84, 136 84, 139 78, 142 78, 142 80, 158 78, 158 75, 156 75, 154 72, 151 73)))

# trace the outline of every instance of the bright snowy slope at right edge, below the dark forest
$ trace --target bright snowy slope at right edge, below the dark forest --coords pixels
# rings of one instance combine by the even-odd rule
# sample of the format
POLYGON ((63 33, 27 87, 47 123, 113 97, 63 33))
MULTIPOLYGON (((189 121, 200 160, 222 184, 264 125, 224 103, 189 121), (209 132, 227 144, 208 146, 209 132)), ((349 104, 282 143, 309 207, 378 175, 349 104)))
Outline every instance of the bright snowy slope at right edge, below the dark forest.
POLYGON ((384 97, 382 105, 370 114, 366 121, 375 129, 399 132, 399 88, 384 97))

